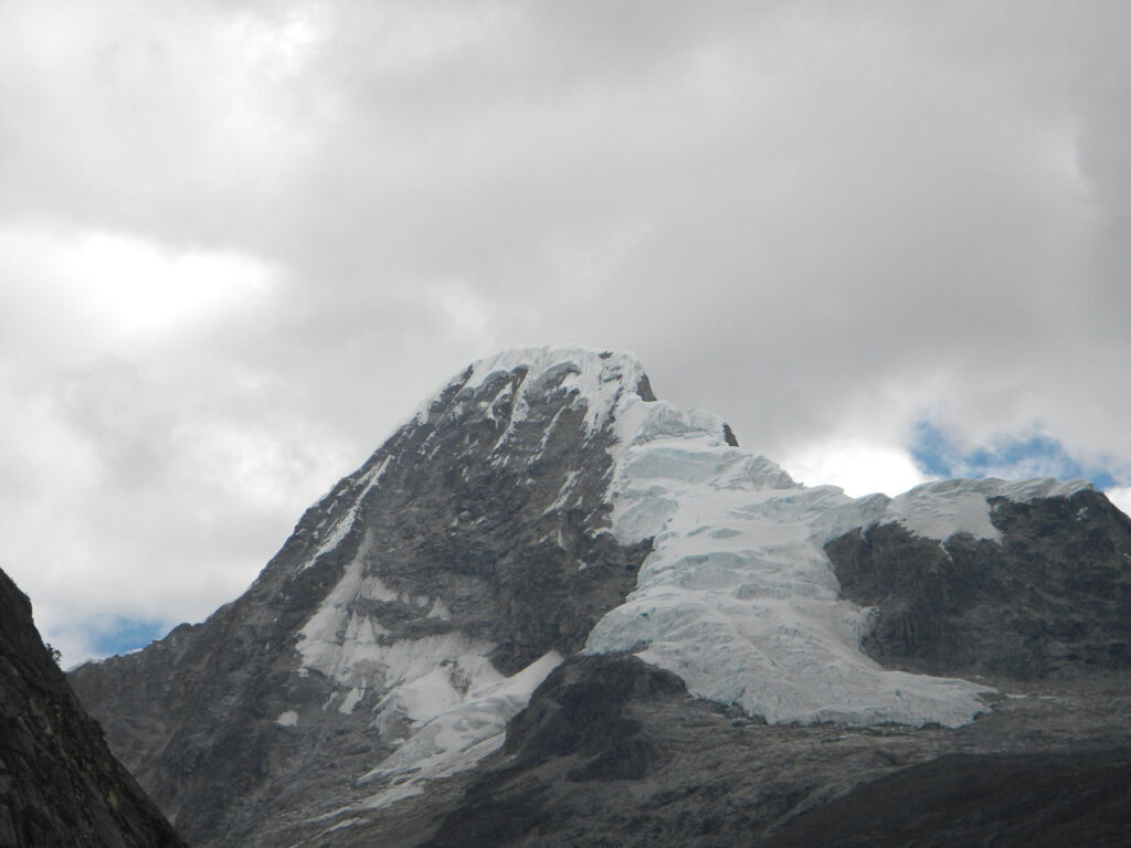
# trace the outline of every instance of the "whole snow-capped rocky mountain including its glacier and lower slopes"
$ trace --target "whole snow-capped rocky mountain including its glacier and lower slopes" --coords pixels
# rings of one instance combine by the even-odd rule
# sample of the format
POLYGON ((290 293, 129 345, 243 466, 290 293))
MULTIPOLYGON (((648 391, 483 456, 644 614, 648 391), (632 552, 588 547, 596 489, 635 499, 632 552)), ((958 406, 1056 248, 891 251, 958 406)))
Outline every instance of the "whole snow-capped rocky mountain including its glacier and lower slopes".
POLYGON ((629 355, 532 348, 442 387, 239 599, 71 683, 200 848, 848 845, 864 813, 824 811, 893 772, 890 814, 960 840, 946 787, 1025 808, 1017 758, 1114 793, 1051 814, 1104 833, 1129 588, 1083 481, 851 499, 629 355))

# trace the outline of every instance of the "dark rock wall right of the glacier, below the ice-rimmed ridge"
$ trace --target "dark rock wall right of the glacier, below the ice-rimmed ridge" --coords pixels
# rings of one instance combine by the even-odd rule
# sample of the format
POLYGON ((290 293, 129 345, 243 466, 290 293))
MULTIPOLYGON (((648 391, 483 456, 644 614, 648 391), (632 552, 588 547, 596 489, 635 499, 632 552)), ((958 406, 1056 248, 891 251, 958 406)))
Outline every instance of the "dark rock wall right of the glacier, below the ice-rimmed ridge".
POLYGON ((878 608, 864 650, 947 675, 1131 667, 1131 520, 1094 491, 990 505, 1001 544, 890 523, 826 546, 843 596, 878 608))

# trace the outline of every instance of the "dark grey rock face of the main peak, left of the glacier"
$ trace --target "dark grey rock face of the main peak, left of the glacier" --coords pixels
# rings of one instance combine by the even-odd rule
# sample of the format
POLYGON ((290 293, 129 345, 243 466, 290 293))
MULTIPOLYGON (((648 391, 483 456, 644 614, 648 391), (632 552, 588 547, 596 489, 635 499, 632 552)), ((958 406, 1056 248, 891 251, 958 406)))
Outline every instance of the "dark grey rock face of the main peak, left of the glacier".
MULTIPOLYGON (((650 546, 603 531, 615 436, 562 384, 576 371, 566 363, 528 379, 516 367, 473 386, 468 370, 303 516, 241 598, 71 674, 114 750, 193 845, 317 834, 328 825, 311 831, 308 820, 365 797, 354 781, 411 730, 388 718, 380 669, 347 683, 331 661, 302 665, 301 630, 349 580, 330 641, 348 642, 359 622, 377 634, 372 650, 484 640, 503 674, 578 650, 622 603, 650 546)), ((614 378, 611 390, 637 387, 614 378)), ((646 381, 637 390, 650 396, 646 381)))

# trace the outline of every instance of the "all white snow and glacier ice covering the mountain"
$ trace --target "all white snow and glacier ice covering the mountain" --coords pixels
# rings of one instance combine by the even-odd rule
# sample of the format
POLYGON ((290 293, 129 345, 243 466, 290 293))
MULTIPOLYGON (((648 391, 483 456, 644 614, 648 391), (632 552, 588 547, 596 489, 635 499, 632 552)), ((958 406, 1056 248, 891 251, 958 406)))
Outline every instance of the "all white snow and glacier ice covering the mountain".
MULTIPOLYGON (((549 391, 563 398, 562 409, 584 413, 584 441, 601 438, 601 449, 608 451, 611 518, 594 531, 612 534, 622 545, 651 539, 651 552, 634 590, 601 617, 585 652, 637 654, 679 675, 692 694, 737 704, 771 724, 972 721, 986 709, 986 686, 889 670, 862 652, 871 611, 840 599, 823 546, 854 528, 888 522, 940 544, 956 533, 993 540, 1000 534, 988 499, 1045 497, 1088 485, 941 481, 893 499, 853 499, 836 486, 800 485, 766 457, 735 447, 719 416, 655 400, 642 366, 624 353, 536 347, 480 360, 422 404, 405 426, 437 424, 432 410, 452 391, 456 405, 478 398, 483 414, 499 425, 492 465, 511 461, 506 448, 529 401, 549 391), (524 372, 517 390, 503 381, 494 397, 476 393, 492 378, 516 371, 524 372)), ((560 416, 561 410, 524 461, 541 457, 560 416)), ((422 456, 428 449, 425 440, 422 456)), ((357 504, 382 485, 388 464, 386 457, 338 495, 354 505, 319 526, 321 544, 300 570, 354 531, 357 504)), ((566 473, 543 514, 575 505, 576 481, 576 471, 566 473)), ((562 661, 551 651, 507 677, 487 658, 495 646, 483 639, 454 632, 390 640, 377 618, 354 609, 359 599, 398 599, 428 608, 429 616, 447 613, 440 598, 397 598, 364 573, 368 544, 363 535, 296 644, 304 673, 317 670, 338 684, 323 709, 371 711, 372 727, 397 746, 361 778, 359 785, 372 785, 372 794, 336 815, 388 806, 420 794, 430 779, 472 768, 498 750, 507 721, 562 661)), ((297 720, 293 713, 279 717, 280 725, 297 720)))

